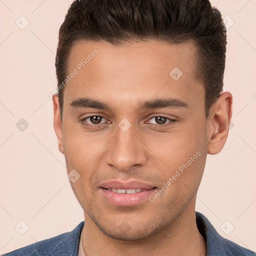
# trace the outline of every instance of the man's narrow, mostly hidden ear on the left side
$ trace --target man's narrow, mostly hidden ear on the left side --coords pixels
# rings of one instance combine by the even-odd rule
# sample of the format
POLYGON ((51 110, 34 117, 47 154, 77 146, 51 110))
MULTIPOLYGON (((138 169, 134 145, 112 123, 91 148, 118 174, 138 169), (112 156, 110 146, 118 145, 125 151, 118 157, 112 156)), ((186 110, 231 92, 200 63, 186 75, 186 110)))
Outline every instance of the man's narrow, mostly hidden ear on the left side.
POLYGON ((62 127, 60 122, 60 110, 59 110, 59 102, 58 102, 57 95, 52 96, 52 104, 53 104, 53 115, 54 115, 53 126, 58 139, 58 150, 61 153, 64 153, 63 140, 62 140, 62 127))

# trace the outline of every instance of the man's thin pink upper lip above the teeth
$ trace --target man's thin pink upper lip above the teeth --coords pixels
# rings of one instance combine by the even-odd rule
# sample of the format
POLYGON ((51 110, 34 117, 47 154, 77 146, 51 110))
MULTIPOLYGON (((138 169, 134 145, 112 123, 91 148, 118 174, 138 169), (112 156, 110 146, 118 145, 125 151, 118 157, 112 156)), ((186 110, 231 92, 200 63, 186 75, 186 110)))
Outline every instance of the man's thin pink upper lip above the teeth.
POLYGON ((99 184, 99 187, 103 188, 116 188, 116 189, 135 189, 135 188, 141 188, 141 189, 151 189, 155 186, 140 182, 140 181, 120 181, 120 180, 110 180, 106 182, 102 182, 99 184))

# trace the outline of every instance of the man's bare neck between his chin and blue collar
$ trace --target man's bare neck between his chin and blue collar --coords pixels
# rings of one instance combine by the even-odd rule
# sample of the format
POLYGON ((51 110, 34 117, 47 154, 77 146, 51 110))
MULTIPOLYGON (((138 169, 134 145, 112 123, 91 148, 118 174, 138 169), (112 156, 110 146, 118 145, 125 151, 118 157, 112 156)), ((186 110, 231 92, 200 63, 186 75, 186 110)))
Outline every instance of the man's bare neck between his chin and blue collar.
POLYGON ((84 213, 82 244, 85 255, 206 255, 205 242, 197 229, 194 207, 189 206, 164 229, 141 240, 117 240, 105 235, 84 213))

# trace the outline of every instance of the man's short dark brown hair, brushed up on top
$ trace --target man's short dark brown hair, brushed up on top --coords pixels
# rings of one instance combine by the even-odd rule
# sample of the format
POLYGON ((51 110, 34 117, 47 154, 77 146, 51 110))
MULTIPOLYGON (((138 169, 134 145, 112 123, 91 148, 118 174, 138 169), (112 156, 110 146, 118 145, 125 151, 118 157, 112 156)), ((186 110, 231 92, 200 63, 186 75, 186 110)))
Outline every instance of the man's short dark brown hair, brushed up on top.
MULTIPOLYGON (((55 59, 58 84, 66 78, 74 41, 105 40, 112 44, 156 39, 197 46, 196 77, 205 86, 205 114, 223 89, 226 28, 209 0, 75 0, 59 29, 55 59)), ((58 91, 62 122, 63 91, 58 91)))

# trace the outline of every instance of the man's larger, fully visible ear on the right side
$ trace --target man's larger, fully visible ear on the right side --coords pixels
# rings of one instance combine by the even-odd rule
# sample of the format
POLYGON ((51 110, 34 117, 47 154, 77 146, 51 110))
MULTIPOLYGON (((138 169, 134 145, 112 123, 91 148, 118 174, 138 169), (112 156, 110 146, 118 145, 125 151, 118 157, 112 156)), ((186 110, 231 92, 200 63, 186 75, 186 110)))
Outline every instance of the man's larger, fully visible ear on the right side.
POLYGON ((217 154, 223 148, 232 116, 232 94, 223 92, 211 106, 208 116, 208 146, 209 154, 217 154))

